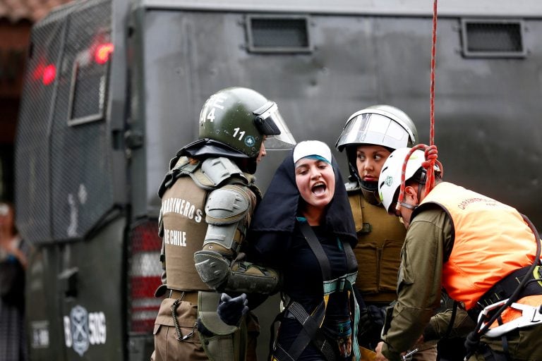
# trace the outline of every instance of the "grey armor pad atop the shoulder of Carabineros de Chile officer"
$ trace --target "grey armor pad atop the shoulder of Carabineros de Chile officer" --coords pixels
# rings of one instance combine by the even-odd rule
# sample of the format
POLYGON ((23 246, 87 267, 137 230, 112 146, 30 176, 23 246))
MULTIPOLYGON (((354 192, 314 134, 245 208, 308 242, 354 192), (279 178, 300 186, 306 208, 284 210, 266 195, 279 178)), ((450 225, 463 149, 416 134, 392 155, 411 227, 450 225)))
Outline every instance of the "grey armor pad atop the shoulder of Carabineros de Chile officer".
POLYGON ((204 189, 217 188, 232 176, 241 178, 240 183, 248 185, 249 181, 239 166, 226 157, 207 158, 201 164, 201 169, 191 174, 192 179, 204 189))

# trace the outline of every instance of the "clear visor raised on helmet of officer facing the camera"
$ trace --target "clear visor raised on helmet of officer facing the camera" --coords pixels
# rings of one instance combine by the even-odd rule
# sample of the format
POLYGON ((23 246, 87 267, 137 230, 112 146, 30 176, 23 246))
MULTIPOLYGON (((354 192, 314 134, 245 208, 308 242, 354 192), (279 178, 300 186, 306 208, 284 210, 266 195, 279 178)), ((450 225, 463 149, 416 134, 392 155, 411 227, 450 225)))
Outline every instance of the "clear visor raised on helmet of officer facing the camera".
POLYGON ((392 149, 406 147, 414 135, 396 121, 380 114, 352 117, 337 140, 337 147, 350 144, 374 144, 392 149))

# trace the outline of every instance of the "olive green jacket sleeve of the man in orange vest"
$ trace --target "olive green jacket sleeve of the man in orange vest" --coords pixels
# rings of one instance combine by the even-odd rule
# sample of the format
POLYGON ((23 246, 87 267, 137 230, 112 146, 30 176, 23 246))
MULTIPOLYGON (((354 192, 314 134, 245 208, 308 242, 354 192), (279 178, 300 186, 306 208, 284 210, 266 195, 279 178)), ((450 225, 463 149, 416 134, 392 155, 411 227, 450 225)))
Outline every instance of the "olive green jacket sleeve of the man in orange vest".
POLYGON ((411 221, 401 251, 398 299, 383 335, 388 360, 401 360, 399 354, 416 343, 440 305, 442 262, 452 246, 452 221, 444 210, 435 206, 411 221))

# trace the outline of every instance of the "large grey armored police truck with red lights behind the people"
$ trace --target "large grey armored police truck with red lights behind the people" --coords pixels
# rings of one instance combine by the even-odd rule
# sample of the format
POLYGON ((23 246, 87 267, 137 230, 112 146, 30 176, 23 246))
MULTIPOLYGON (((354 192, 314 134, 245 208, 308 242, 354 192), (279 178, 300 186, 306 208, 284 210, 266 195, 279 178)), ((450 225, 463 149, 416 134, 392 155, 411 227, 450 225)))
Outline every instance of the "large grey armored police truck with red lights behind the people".
MULTIPOLYGON (((148 360, 160 300, 157 188, 210 94, 251 87, 296 140, 403 109, 428 143, 430 0, 87 0, 32 30, 16 137, 17 222, 35 245, 31 360, 148 360)), ((542 3, 443 1, 435 144, 445 177, 542 229, 542 3)), ((256 176, 270 181, 284 152, 256 176)), ((347 174, 346 157, 335 156, 347 174)), ((267 314, 259 352, 267 349, 267 314)))

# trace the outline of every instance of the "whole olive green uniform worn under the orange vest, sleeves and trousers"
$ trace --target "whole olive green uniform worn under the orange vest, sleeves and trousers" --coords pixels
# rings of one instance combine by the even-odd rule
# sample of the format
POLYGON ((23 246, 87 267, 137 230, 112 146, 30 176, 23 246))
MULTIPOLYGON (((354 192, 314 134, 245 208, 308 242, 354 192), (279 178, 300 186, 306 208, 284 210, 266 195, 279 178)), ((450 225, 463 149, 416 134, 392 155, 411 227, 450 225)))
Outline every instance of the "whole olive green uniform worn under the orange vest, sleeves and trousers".
MULTIPOLYGON (((400 353, 416 343, 429 322, 435 338, 444 336, 450 312, 431 317, 440 302, 442 263, 449 257, 453 244, 452 220, 442 208, 427 207, 411 220, 401 252, 397 304, 389 329, 383 335, 382 353, 388 360, 401 360, 400 353)), ((451 336, 466 336, 474 326, 461 310, 451 336)), ((508 347, 512 358, 542 360, 541 334, 540 325, 511 331, 508 347)), ((482 337, 481 342, 502 351, 500 338, 482 337)), ((479 357, 474 355, 469 360, 483 360, 479 357)))

